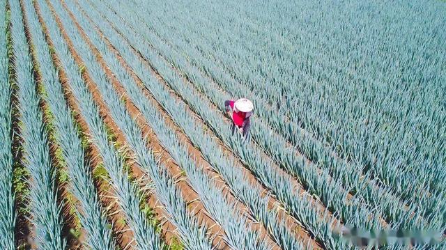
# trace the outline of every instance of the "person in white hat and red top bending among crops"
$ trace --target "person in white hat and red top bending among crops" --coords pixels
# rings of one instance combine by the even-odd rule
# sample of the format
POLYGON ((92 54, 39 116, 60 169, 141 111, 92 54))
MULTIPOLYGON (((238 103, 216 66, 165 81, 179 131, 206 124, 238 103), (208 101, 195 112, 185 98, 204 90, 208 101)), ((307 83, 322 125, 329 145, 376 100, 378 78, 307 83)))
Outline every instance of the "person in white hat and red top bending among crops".
POLYGON ((252 109, 254 109, 254 105, 251 101, 246 98, 240 98, 236 101, 227 100, 224 102, 224 107, 226 107, 226 112, 231 115, 232 112, 232 134, 236 132, 236 127, 240 134, 245 136, 245 139, 249 138, 249 127, 251 127, 251 123, 249 118, 252 116, 252 109))

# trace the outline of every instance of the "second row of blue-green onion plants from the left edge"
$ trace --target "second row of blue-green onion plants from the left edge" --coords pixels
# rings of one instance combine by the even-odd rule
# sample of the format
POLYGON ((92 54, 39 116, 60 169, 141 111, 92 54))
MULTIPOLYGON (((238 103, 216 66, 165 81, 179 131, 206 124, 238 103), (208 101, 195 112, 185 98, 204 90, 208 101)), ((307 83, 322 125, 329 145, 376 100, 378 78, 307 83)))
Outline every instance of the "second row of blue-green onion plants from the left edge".
POLYGON ((64 249, 61 207, 57 203, 55 169, 49 157, 47 131, 36 93, 31 55, 24 32, 19 1, 9 1, 13 40, 15 81, 20 107, 23 164, 29 177, 29 214, 36 243, 43 249, 64 249))

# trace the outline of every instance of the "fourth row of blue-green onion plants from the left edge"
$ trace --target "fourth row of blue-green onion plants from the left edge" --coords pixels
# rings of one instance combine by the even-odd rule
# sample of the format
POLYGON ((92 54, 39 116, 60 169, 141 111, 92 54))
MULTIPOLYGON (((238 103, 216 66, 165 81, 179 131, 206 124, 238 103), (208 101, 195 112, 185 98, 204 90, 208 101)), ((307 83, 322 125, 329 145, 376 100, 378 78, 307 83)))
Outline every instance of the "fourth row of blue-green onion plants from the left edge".
MULTIPOLYGON (((61 61, 61 67, 66 72, 68 84, 72 95, 75 96, 82 117, 89 126, 93 143, 100 153, 104 167, 109 174, 112 187, 118 198, 125 219, 128 221, 134 234, 134 242, 138 249, 161 249, 162 240, 155 233, 155 228, 139 210, 140 201, 137 189, 128 178, 128 173, 123 171, 123 159, 116 152, 114 145, 107 138, 107 130, 98 113, 97 104, 93 101, 91 93, 86 88, 79 72, 79 67, 70 54, 66 41, 63 40, 61 31, 56 25, 56 19, 52 17, 51 10, 45 1, 38 1, 41 17, 47 27, 47 32, 54 45, 54 51, 61 61)), ((84 58, 89 60, 93 58, 84 58)))

